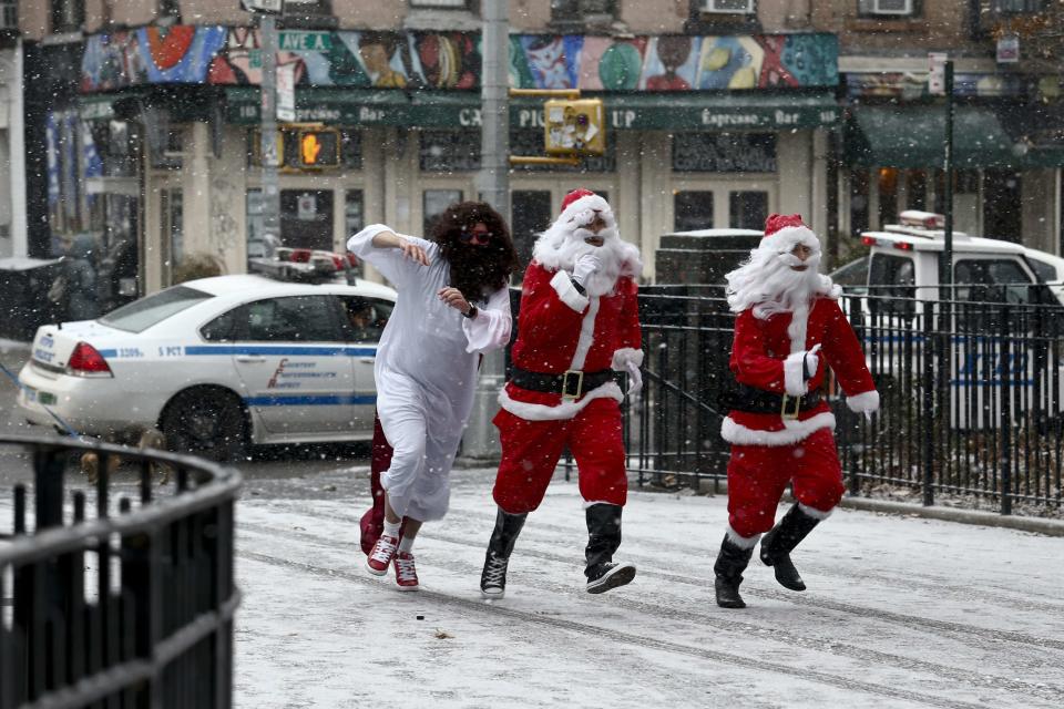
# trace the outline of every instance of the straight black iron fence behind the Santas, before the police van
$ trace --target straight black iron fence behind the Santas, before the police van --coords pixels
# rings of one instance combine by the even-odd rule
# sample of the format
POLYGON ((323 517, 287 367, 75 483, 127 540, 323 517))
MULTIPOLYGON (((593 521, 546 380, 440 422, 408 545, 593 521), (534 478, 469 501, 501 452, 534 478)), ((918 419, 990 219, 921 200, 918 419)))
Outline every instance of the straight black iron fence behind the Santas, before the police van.
MULTIPOLYGON (((1060 513, 1064 309, 868 295, 841 305, 882 394, 866 420, 828 383, 851 493, 1060 513)), ((625 411, 631 467, 640 484, 725 480, 718 397, 732 382, 734 330, 723 290, 651 287, 641 308, 645 386, 625 411)))

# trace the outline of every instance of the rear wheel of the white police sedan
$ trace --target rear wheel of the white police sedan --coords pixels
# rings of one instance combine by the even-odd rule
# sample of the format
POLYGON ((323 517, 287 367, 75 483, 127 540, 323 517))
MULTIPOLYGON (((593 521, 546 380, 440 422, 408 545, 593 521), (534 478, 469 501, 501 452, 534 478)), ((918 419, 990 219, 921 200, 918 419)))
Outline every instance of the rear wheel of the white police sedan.
POLYGON ((245 422, 244 410, 234 394, 188 389, 166 407, 162 429, 167 444, 175 451, 229 461, 244 452, 245 422))

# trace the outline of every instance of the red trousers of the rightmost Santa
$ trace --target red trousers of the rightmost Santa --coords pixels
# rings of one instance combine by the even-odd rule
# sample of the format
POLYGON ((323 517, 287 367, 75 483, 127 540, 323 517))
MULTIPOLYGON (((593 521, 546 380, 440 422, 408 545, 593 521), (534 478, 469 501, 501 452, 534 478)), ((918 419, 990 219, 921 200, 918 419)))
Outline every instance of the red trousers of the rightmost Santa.
POLYGON ((773 528, 779 499, 791 483, 795 500, 830 512, 846 487, 831 429, 791 445, 733 445, 728 461, 728 523, 741 536, 773 528))

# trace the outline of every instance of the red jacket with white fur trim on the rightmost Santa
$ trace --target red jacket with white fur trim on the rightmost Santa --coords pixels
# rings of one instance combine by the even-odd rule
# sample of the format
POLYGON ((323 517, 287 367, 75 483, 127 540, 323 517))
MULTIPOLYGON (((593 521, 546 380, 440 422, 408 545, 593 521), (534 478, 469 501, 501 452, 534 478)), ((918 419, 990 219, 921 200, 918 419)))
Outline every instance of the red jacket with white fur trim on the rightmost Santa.
MULTIPOLYGON (((877 410, 879 392, 853 328, 838 301, 825 297, 814 300, 805 338, 795 347, 788 335, 791 317, 789 312, 780 312, 759 319, 753 308, 738 315, 729 360, 736 380, 764 391, 795 397, 818 390, 830 367, 851 410, 869 413, 877 410), (805 354, 818 345, 817 370, 807 378, 805 354)), ((800 328, 798 330, 800 332, 800 328)), ((789 445, 823 428, 835 429, 835 415, 821 400, 790 420, 780 413, 732 411, 720 427, 720 435, 739 445, 789 445)))

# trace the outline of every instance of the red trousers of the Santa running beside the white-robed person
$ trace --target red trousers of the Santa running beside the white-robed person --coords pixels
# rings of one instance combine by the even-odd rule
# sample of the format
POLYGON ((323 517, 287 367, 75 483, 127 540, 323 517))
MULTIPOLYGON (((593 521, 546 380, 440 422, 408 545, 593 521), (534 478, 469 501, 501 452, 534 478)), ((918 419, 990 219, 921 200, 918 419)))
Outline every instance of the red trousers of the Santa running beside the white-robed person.
POLYGON ((521 514, 540 506, 566 443, 576 459, 583 499, 624 505, 628 477, 615 400, 595 399, 569 421, 529 421, 503 409, 494 423, 502 462, 492 494, 505 512, 521 514))

